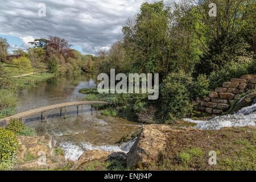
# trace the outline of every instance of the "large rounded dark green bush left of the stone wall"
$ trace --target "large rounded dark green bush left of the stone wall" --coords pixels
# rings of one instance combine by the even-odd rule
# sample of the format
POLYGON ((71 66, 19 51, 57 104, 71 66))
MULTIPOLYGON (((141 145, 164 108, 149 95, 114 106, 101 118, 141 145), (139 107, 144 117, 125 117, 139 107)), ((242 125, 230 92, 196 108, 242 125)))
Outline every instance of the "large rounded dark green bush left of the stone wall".
POLYGON ((191 83, 191 76, 183 71, 170 73, 163 80, 160 85, 160 104, 158 104, 158 115, 162 122, 191 115, 192 100, 189 93, 191 83))

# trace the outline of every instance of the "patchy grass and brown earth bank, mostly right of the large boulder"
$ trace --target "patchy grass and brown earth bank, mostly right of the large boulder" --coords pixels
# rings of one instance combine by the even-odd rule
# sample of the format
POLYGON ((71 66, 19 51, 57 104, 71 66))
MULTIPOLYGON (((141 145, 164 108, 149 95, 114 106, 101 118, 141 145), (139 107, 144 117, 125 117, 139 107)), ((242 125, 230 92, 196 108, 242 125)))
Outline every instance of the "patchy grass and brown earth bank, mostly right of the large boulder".
MULTIPOLYGON (((255 127, 230 127, 221 130, 193 130, 169 133, 165 150, 148 167, 135 170, 160 171, 255 171, 255 127), (215 151, 217 164, 210 166, 209 152, 215 151)), ((67 168, 68 170, 68 168, 67 168)), ((130 170, 123 160, 94 160, 80 170, 130 170)))

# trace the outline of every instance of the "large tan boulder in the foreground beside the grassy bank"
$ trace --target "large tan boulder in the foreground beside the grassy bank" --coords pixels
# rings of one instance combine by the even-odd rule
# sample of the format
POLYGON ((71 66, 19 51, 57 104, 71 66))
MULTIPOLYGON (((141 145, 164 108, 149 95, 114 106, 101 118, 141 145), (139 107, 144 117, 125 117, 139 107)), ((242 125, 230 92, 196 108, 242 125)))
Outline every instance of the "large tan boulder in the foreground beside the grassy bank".
POLYGON ((167 142, 167 133, 178 131, 167 125, 146 125, 127 154, 127 166, 138 168, 150 165, 158 158, 167 142))

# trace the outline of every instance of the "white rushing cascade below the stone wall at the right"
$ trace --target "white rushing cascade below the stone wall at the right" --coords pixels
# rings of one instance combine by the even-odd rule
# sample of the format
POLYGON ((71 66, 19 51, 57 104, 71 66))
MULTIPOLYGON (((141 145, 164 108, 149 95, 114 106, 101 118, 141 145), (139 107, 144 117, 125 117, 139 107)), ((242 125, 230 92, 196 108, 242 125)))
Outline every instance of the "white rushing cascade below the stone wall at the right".
POLYGON ((196 121, 192 119, 184 119, 187 122, 197 123, 196 129, 203 130, 220 130, 222 127, 243 127, 256 126, 256 104, 244 107, 236 114, 217 116, 208 121, 196 121))

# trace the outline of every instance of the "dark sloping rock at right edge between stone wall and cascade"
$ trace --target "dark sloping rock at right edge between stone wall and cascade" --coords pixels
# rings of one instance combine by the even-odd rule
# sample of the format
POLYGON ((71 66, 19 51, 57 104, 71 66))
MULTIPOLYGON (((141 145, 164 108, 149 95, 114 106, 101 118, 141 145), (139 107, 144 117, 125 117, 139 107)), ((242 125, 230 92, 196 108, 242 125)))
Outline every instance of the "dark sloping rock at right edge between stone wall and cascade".
POLYGON ((253 102, 255 101, 256 101, 256 91, 253 93, 247 94, 247 96, 245 96, 243 100, 241 100, 239 103, 234 105, 232 111, 230 111, 230 114, 236 113, 238 110, 241 110, 243 107, 247 107, 254 104, 253 102))

